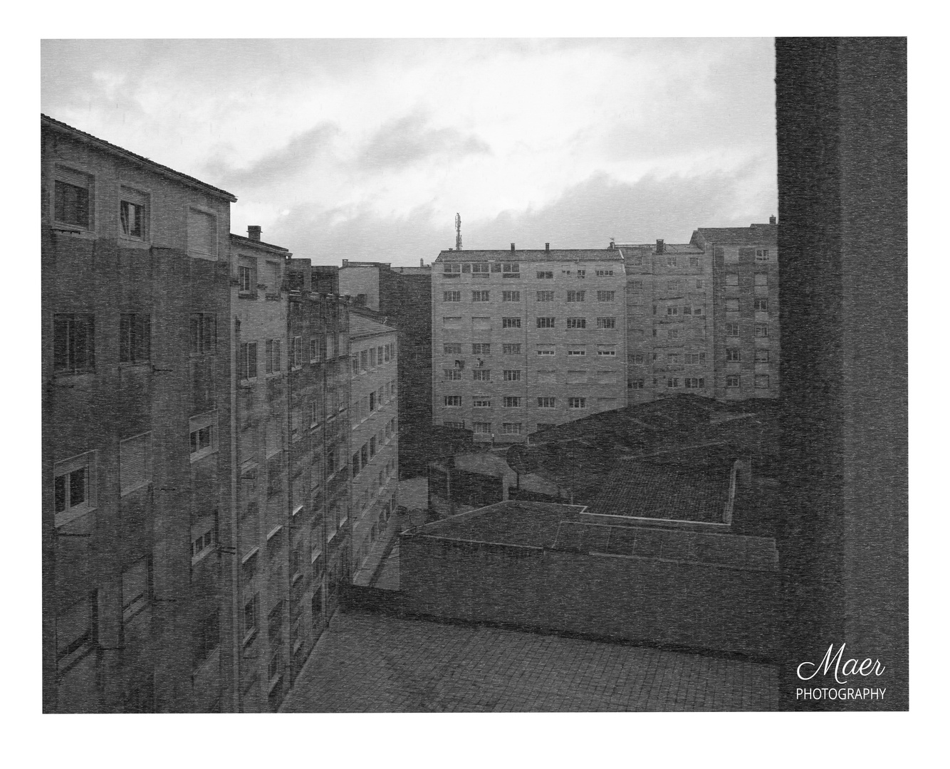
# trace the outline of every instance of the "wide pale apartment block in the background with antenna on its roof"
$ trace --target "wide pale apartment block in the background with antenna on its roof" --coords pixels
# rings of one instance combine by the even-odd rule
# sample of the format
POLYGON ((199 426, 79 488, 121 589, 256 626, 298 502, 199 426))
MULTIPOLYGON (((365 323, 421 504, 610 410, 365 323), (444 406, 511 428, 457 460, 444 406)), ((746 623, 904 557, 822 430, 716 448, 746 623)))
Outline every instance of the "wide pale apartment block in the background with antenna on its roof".
POLYGON ((518 442, 626 404, 618 249, 450 250, 433 276, 434 423, 518 442))

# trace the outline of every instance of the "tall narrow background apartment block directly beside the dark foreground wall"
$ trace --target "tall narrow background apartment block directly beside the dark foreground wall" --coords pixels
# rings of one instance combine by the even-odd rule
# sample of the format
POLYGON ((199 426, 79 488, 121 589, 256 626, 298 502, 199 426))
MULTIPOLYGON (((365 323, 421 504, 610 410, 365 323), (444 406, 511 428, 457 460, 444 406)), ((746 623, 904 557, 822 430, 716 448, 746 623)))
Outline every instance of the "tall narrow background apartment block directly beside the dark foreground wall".
POLYGON ((778 223, 702 227, 690 243, 712 262, 716 398, 779 394, 778 223))

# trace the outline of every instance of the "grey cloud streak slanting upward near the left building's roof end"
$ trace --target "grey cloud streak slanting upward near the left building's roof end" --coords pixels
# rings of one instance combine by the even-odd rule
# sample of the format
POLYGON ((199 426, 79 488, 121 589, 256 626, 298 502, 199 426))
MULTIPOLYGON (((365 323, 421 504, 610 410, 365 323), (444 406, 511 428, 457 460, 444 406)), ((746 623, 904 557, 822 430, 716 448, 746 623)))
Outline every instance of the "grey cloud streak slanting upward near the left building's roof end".
POLYGON ((225 187, 258 188, 285 183, 307 171, 330 147, 339 134, 339 125, 327 121, 314 125, 291 138, 283 147, 257 159, 247 168, 233 168, 223 159, 212 159, 206 166, 209 178, 225 187))

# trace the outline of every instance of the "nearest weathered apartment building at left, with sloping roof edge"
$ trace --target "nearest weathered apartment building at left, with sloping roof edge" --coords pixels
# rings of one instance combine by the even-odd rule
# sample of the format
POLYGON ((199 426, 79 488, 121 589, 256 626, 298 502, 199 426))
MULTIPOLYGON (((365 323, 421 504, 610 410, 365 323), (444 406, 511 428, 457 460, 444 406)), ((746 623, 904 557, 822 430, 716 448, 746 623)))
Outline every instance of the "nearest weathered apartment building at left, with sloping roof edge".
POLYGON ((231 709, 237 198, 40 128, 44 710, 231 709))

